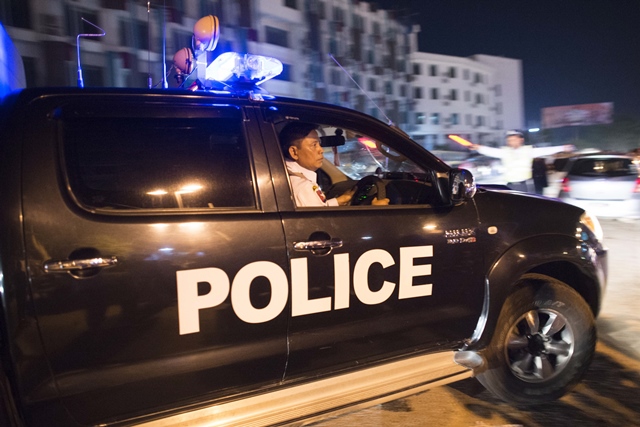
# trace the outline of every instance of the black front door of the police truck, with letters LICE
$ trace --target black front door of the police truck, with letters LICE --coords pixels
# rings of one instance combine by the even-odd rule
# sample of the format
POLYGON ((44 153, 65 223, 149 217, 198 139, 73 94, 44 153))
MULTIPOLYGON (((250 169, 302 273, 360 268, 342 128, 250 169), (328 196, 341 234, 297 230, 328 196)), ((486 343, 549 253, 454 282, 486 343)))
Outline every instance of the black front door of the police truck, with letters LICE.
MULTIPOLYGON (((444 165, 382 123, 305 110, 279 106, 272 126, 276 134, 295 118, 318 124, 321 136, 345 138, 325 149, 318 170, 327 198, 364 178, 369 184, 354 198, 367 202, 382 181, 391 204, 298 207, 289 186, 279 188, 292 283, 287 378, 459 346, 473 333, 484 296, 473 202, 438 207, 425 176, 444 165)), ((272 164, 282 174, 279 162, 272 164)))

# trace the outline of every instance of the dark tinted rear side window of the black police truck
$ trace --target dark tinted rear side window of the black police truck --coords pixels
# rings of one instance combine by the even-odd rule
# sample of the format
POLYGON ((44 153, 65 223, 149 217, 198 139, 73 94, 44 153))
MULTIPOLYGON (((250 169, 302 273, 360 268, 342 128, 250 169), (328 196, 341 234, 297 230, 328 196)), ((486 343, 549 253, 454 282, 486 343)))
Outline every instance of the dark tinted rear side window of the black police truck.
POLYGON ((63 119, 70 190, 92 210, 255 208, 242 119, 233 113, 63 119))

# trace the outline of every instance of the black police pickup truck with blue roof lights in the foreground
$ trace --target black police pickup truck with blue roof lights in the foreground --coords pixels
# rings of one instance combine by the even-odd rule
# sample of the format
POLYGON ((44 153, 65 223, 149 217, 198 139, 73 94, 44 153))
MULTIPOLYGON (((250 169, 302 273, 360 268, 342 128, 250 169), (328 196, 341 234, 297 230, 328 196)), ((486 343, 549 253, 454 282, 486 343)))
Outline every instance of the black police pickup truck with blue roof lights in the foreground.
POLYGON ((24 89, 0 117, 2 425, 277 425, 472 375, 537 404, 594 354, 597 219, 370 116, 244 87, 24 89), (296 121, 349 206, 296 206, 296 121))

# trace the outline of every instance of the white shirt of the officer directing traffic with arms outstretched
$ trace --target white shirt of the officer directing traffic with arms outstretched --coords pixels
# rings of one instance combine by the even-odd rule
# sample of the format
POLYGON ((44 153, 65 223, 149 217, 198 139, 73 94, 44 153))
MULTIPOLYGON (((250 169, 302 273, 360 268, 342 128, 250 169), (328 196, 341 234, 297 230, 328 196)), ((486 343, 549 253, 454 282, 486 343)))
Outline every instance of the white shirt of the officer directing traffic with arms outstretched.
POLYGON ((522 182, 531 179, 533 159, 549 156, 563 150, 564 146, 534 148, 531 145, 523 145, 518 148, 509 146, 493 148, 481 145, 478 147, 478 153, 502 160, 506 182, 522 182))

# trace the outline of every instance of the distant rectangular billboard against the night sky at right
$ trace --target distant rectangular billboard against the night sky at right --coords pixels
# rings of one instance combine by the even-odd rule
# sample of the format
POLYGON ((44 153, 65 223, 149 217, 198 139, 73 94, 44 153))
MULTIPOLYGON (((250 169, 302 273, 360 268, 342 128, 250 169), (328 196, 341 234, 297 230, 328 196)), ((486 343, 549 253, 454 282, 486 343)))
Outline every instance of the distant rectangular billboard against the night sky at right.
POLYGON ((613 122, 613 102, 565 105, 542 109, 542 128, 604 125, 613 122))

